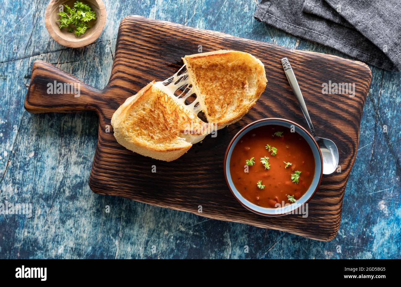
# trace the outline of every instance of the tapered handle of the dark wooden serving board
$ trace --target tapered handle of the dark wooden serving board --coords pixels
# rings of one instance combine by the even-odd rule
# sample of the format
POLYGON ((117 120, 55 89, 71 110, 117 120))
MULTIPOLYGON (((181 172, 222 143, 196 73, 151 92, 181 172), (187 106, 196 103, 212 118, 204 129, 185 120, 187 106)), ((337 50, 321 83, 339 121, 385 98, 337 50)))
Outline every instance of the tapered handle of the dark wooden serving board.
POLYGON ((101 90, 45 61, 34 61, 24 107, 28 112, 96 111, 102 104, 101 90))

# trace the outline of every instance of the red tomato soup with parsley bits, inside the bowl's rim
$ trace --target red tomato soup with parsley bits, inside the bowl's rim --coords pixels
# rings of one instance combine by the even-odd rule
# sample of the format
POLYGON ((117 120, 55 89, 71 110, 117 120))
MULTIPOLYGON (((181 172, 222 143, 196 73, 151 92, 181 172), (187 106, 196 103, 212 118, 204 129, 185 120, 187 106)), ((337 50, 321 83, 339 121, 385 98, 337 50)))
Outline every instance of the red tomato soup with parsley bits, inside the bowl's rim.
POLYGON ((235 187, 249 202, 277 208, 275 204, 291 204, 306 193, 314 177, 315 160, 300 134, 284 126, 266 125, 247 132, 237 142, 230 173, 235 187), (245 167, 252 157, 253 165, 248 162, 245 167), (268 159, 262 163, 264 157, 268 159), (291 165, 286 167, 287 163, 291 165))

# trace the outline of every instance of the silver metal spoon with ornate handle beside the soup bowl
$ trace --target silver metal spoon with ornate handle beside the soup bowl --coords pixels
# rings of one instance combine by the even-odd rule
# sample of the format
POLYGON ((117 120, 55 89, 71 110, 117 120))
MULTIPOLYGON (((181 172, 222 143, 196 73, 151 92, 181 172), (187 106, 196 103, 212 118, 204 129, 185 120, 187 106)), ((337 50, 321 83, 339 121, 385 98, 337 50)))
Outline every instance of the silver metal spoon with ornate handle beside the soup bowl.
POLYGON ((318 143, 319 149, 322 153, 323 158, 323 174, 333 173, 338 166, 338 149, 332 140, 328 138, 320 138, 316 136, 315 129, 313 128, 312 121, 310 120, 310 116, 308 113, 308 109, 306 108, 304 97, 302 96, 300 87, 298 85, 297 79, 294 75, 294 71, 292 71, 292 67, 287 58, 281 59, 281 63, 283 65, 284 71, 286 73, 288 82, 294 92, 298 104, 300 104, 301 110, 304 113, 306 122, 308 123, 310 133, 318 143))

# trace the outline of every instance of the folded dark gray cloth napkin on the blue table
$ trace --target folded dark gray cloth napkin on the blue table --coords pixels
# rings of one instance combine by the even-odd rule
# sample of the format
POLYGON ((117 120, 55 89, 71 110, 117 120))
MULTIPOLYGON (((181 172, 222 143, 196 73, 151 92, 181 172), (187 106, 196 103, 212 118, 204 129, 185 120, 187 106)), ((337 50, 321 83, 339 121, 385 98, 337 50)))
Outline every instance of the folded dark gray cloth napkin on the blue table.
POLYGON ((400 0, 261 0, 254 16, 381 69, 401 71, 400 0))

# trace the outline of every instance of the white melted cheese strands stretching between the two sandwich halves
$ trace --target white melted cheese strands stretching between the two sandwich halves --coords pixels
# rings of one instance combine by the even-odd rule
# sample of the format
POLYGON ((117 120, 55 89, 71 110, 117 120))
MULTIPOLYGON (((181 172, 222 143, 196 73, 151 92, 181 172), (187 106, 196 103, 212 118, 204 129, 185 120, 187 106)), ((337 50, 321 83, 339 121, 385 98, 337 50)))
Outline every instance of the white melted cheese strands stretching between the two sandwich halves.
POLYGON ((164 81, 158 81, 154 84, 158 89, 162 90, 178 104, 184 108, 190 110, 195 115, 197 115, 201 110, 203 110, 203 105, 198 100, 198 95, 195 93, 195 88, 192 80, 188 77, 188 71, 186 70, 186 65, 183 65, 174 75, 165 79, 164 81), (176 95, 179 91, 180 94, 176 95), (185 104, 186 98, 195 94, 196 99, 189 105, 185 104))

